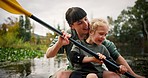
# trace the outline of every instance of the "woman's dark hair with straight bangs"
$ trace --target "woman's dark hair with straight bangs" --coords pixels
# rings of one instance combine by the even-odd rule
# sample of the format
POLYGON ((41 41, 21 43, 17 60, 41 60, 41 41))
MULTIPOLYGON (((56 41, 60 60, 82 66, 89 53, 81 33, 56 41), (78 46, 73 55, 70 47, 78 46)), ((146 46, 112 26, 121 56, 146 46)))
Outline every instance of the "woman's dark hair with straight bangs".
POLYGON ((66 20, 69 25, 72 25, 74 22, 79 21, 80 19, 86 16, 86 12, 80 7, 71 7, 66 12, 66 20))

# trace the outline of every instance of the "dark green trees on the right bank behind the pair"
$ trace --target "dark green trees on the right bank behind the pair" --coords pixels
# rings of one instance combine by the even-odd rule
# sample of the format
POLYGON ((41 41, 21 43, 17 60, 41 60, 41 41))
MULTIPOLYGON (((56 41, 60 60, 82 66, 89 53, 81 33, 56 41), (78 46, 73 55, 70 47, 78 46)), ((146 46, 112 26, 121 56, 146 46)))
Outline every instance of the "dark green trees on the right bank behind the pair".
POLYGON ((148 2, 137 0, 133 7, 123 10, 110 24, 114 26, 112 40, 142 44, 143 39, 148 40, 148 2))

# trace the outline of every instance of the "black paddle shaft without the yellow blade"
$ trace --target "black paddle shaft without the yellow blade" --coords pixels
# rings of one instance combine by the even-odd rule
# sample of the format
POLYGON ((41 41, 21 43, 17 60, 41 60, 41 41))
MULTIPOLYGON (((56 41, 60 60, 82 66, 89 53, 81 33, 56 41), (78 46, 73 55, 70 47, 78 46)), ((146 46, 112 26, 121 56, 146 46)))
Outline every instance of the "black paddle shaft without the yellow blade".
MULTIPOLYGON (((59 35, 63 35, 63 33, 55 28, 53 28, 52 26, 48 25, 47 23, 43 22, 42 20, 38 19, 37 17, 35 17, 34 15, 31 15, 31 17, 33 20, 39 22, 40 24, 42 24, 43 26, 49 28, 50 30, 56 32, 59 35)), ((95 58, 99 59, 98 54, 96 54, 95 52, 93 52, 92 50, 88 49, 87 47, 83 46, 82 44, 78 43, 76 40, 69 38, 69 40, 75 44, 76 46, 80 47, 82 50, 86 51, 87 53, 91 54, 92 56, 94 56, 95 58)), ((110 64, 113 68, 115 68, 116 70, 119 70, 119 66, 117 66, 116 64, 112 63, 111 61, 105 59, 103 60, 104 62, 110 64)), ((125 72, 126 76, 128 76, 129 78, 135 78, 134 76, 132 76, 131 74, 129 74, 128 72, 125 72)))

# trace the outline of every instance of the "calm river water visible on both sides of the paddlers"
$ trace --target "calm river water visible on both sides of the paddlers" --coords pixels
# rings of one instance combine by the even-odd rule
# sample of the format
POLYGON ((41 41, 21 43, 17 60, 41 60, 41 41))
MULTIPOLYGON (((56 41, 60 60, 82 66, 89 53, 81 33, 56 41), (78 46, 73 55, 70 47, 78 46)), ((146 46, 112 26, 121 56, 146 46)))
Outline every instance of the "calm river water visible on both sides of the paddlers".
MULTIPOLYGON (((123 53, 123 56, 137 74, 148 78, 147 53, 133 53, 123 53)), ((0 78, 49 78, 57 70, 65 67, 66 63, 64 55, 51 59, 44 56, 21 62, 0 62, 0 78)))

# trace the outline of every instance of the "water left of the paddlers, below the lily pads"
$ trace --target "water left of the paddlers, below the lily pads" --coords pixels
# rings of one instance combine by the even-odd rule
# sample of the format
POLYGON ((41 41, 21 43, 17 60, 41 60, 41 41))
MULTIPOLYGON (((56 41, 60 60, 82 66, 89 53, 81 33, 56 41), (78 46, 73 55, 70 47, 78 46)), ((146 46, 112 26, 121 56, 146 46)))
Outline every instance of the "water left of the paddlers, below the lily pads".
POLYGON ((66 66, 66 59, 46 57, 22 62, 3 62, 0 63, 0 78, 49 78, 63 66, 66 66))

